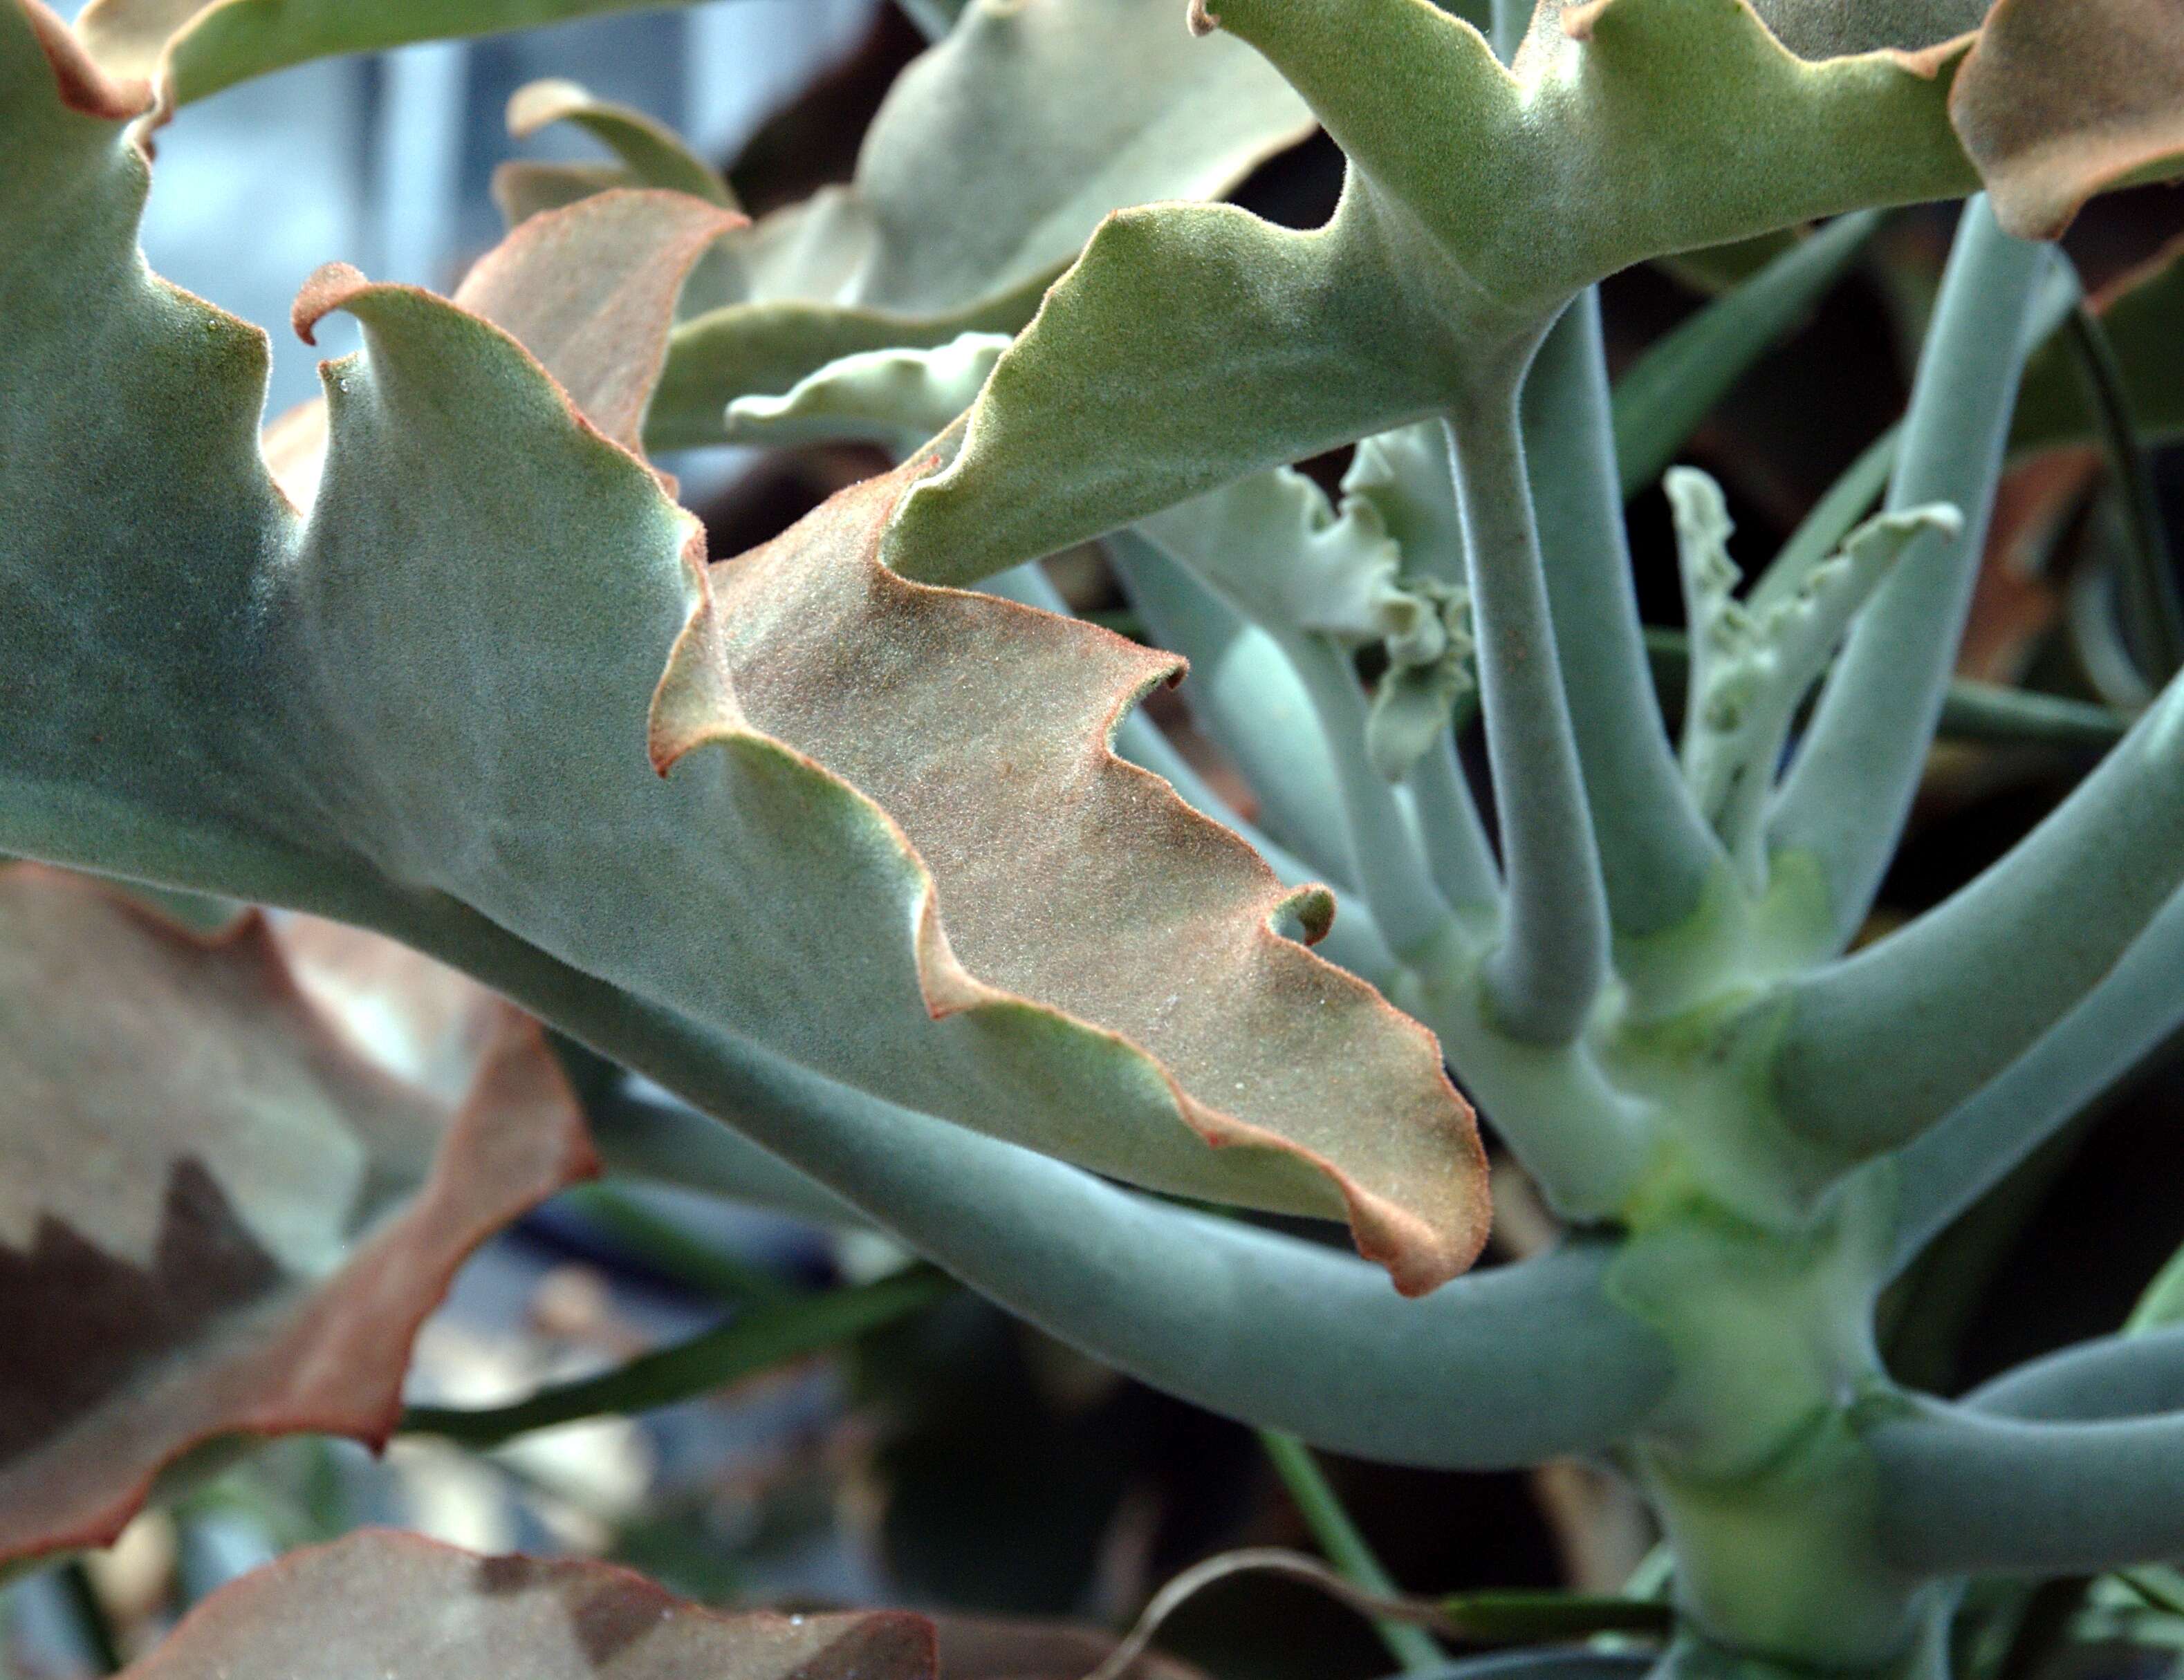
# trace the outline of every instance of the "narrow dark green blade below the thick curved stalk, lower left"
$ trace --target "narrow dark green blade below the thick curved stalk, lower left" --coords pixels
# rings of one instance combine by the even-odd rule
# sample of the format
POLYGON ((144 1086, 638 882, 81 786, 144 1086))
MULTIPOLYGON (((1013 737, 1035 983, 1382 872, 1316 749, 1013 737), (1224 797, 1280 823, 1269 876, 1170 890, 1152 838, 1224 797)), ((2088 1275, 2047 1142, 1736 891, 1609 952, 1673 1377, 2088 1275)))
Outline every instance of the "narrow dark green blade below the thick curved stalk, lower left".
POLYGON ((557 1383, 505 1407, 411 1407, 402 1413, 402 1431, 489 1448, 579 1418, 627 1416, 697 1400, 893 1324, 950 1289, 937 1271, 902 1271, 878 1282, 756 1306, 719 1330, 642 1354, 598 1376, 557 1383))

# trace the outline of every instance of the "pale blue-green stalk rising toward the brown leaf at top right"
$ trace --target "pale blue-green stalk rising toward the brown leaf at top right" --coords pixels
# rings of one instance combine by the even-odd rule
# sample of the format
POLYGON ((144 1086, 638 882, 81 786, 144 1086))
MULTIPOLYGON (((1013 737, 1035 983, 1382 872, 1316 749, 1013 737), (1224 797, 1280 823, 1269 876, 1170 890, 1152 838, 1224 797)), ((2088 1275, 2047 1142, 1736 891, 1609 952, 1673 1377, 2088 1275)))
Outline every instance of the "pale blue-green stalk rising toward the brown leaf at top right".
POLYGON ((1966 205, 1887 496, 1896 513, 1948 502, 1963 529, 1920 544, 1861 614, 1776 800, 1771 845, 1819 859, 1837 950, 1874 902, 1942 717, 2049 260, 1985 197, 1966 205))

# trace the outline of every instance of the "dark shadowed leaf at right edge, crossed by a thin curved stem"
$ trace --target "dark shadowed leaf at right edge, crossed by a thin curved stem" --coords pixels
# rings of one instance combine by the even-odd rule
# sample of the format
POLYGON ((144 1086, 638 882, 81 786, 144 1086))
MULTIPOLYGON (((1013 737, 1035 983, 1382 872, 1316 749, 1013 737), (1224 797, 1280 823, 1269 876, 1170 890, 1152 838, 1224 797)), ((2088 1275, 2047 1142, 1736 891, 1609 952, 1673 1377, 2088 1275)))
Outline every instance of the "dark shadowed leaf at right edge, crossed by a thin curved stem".
MULTIPOLYGON (((2169 443, 2184 437, 2184 240, 2118 275, 2092 301, 2108 341, 2116 347, 2123 391, 2140 437, 2169 443)), ((2062 334, 2025 363, 2018 411, 2009 426, 2011 450, 2090 443, 2092 413, 2086 380, 2062 334)))

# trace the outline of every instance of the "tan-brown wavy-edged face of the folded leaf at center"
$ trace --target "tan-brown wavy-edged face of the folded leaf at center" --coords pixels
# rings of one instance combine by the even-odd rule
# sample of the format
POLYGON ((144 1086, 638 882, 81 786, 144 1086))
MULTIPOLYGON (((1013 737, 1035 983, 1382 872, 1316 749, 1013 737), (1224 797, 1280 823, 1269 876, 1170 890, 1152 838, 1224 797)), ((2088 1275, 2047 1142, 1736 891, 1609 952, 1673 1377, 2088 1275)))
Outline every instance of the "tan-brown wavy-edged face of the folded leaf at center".
MULTIPOLYGON (((878 800, 935 876, 946 928, 930 900, 919 907, 917 990, 961 1025, 968 1042, 950 1062, 976 1046, 987 1064, 1044 1068, 1013 1097, 1016 1123, 1051 1129, 1059 1153, 1171 1188, 1195 1180, 1201 1193, 1219 1180, 1184 1143, 1190 1134, 1234 1162, 1219 1178, 1249 1182, 1256 1167, 1269 1191, 1295 1178, 1293 1164, 1321 1164, 1361 1245, 1400 1285, 1426 1287, 1468 1261, 1459 1250, 1476 1241, 1483 1206, 1437 1049, 1372 987, 1271 931, 1286 915, 1313 931, 1330 909, 1324 894, 1289 894, 1227 830, 1107 749, 1123 710, 1175 662, 880 566, 895 500, 926 470, 913 461, 843 492, 786 537, 714 568, 712 610, 692 618, 660 688, 655 754, 673 762, 719 745, 734 762, 775 752, 773 736, 878 800), (1005 675, 981 699, 970 684, 987 669, 1005 675), (1153 1068, 1129 1044, 1160 1046, 1173 1092, 1144 1088, 1153 1068), (1048 1088, 1061 1068, 1075 1070, 1059 1075, 1068 1084, 1116 1092, 1099 1134, 1048 1088), (1188 1134, 1171 1129, 1171 1105, 1188 1134)), ((797 876, 826 900, 850 887, 819 887, 810 856, 786 848, 782 869, 784 896, 797 876)), ((885 1057, 919 1105, 946 1101, 965 1073, 935 1064, 939 1086, 917 1090, 915 1051, 889 1042, 882 1009, 874 994, 860 1011, 863 1055, 885 1057)), ((832 1036, 826 1014, 815 1009, 810 1027, 832 1036)), ((880 1075, 874 1064, 858 1084, 880 1075)))

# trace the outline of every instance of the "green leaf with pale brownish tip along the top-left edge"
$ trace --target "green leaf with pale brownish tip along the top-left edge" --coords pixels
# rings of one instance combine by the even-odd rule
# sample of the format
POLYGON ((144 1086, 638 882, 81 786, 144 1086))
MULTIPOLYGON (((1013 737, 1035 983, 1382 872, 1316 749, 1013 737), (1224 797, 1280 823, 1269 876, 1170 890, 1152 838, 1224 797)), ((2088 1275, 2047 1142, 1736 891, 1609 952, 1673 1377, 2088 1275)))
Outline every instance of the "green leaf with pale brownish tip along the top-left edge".
POLYGON ((118 79, 159 79, 188 105, 238 81, 339 52, 596 17, 664 0, 92 0, 76 33, 118 79))

